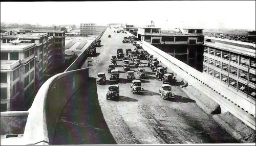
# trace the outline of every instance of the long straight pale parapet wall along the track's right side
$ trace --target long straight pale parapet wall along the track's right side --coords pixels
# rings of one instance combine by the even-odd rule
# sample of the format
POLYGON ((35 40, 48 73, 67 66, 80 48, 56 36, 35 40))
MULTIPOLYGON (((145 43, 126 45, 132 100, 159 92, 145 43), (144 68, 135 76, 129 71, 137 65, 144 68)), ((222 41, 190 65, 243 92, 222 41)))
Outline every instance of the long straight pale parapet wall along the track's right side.
POLYGON ((142 41, 142 46, 145 51, 154 55, 154 57, 157 57, 164 65, 170 67, 189 84, 193 85, 198 90, 206 93, 206 95, 208 95, 212 100, 220 104, 221 107, 225 108, 225 110, 229 111, 234 116, 238 117, 239 119, 244 121, 244 123, 246 123, 248 126, 255 130, 255 103, 250 103, 238 94, 230 91, 227 87, 220 85, 219 83, 215 82, 215 80, 212 80, 212 78, 203 75, 202 72, 159 50, 159 48, 151 45, 150 43, 142 41), (221 94, 228 100, 219 99, 217 96, 214 95, 213 91, 215 91, 215 94, 221 94), (233 108, 232 106, 229 106, 231 104, 236 104, 240 108, 243 108, 249 114, 253 115, 254 118, 250 118, 250 115, 245 111, 238 112, 239 110, 233 108))

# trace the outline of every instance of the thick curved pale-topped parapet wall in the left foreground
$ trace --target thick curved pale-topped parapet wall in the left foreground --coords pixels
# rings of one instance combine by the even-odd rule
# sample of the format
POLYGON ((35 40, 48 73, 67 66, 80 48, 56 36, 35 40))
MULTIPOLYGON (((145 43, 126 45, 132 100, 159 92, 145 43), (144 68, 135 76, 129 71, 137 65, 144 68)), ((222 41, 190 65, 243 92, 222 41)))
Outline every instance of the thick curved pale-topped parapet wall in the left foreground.
POLYGON ((24 131, 27 144, 51 144, 61 110, 88 78, 89 68, 82 68, 57 74, 40 87, 29 109, 24 131))

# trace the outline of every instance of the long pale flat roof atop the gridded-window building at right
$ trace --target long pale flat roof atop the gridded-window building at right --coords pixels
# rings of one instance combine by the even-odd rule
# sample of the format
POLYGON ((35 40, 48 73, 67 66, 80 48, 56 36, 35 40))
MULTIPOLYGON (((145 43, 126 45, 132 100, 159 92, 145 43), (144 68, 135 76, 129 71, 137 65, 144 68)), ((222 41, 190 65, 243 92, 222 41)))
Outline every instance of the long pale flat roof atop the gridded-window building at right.
POLYGON ((233 52, 245 56, 250 56, 250 57, 256 57, 255 55, 255 50, 246 48, 246 47, 241 47, 241 46, 236 46, 236 45, 231 45, 231 44, 225 44, 225 43, 220 43, 220 42, 204 42, 204 45, 206 46, 211 46, 215 48, 219 48, 220 50, 225 50, 228 52, 233 52))

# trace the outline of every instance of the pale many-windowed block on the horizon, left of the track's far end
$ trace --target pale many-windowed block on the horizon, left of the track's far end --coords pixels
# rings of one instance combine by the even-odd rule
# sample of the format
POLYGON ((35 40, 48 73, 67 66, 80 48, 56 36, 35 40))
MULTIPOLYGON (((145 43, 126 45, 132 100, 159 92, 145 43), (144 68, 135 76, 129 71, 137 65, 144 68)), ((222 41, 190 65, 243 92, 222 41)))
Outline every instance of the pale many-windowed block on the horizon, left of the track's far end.
POLYGON ((80 36, 99 35, 106 26, 97 26, 96 23, 81 23, 80 36))

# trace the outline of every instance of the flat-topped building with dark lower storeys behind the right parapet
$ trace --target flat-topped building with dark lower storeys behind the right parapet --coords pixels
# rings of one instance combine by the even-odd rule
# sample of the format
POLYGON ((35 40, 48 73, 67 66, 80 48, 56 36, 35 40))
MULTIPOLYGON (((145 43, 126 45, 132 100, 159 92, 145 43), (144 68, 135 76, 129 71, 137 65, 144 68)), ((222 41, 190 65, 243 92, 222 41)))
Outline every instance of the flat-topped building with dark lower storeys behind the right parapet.
POLYGON ((202 71, 203 29, 163 31, 154 25, 139 27, 137 37, 158 47, 191 67, 202 71))

